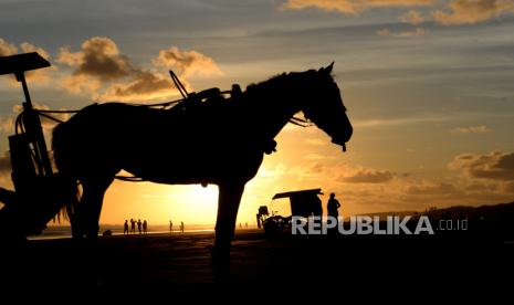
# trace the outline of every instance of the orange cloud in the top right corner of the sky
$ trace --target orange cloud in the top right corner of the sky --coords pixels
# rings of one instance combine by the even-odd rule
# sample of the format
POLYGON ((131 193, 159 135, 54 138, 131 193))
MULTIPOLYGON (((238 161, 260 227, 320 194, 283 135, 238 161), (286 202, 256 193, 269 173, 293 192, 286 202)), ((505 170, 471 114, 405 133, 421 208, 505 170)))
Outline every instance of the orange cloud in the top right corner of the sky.
POLYGON ((432 12, 432 18, 444 25, 474 24, 506 13, 514 13, 514 1, 451 0, 449 10, 436 10, 432 12))

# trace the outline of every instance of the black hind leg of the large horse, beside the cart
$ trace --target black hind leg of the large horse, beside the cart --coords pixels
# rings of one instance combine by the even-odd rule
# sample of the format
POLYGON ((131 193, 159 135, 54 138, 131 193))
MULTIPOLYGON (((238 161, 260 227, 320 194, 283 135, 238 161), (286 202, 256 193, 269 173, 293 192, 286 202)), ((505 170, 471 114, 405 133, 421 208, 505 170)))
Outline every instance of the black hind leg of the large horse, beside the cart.
POLYGON ((80 230, 88 240, 95 241, 98 236, 98 221, 102 203, 107 188, 114 176, 88 177, 81 179, 83 193, 80 204, 80 230))

